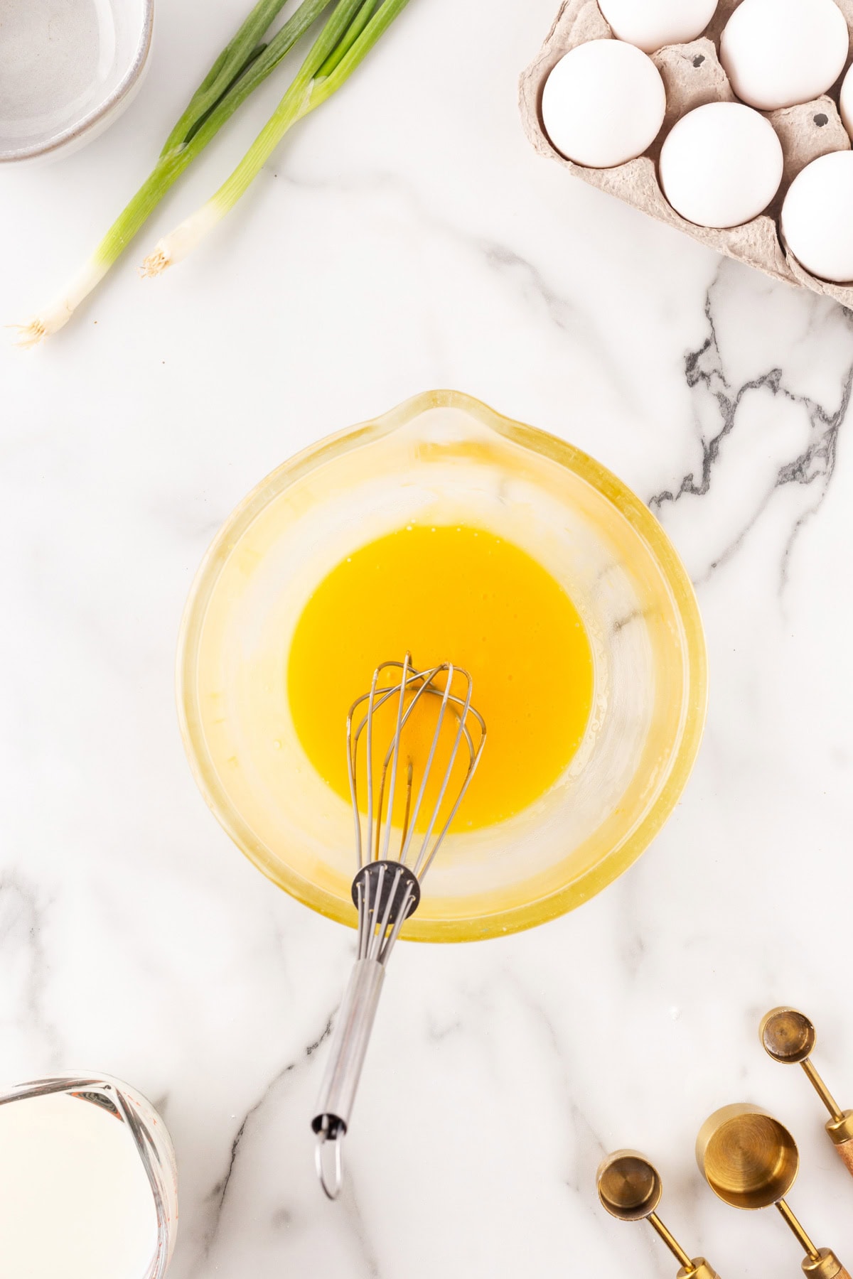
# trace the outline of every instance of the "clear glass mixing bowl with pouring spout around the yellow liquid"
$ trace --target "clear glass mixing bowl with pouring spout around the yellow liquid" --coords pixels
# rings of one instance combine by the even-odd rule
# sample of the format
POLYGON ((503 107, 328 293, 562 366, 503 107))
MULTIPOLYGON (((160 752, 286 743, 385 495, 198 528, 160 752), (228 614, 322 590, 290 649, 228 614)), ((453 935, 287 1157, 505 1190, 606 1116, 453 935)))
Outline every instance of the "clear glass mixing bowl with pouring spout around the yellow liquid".
POLYGON ((193 585, 178 655, 180 725, 196 780, 234 843, 340 922, 356 921, 352 811, 297 739, 289 642, 336 563, 413 521, 485 527, 527 550, 569 592, 595 655, 592 715, 564 775, 515 817, 451 831, 403 930, 473 940, 579 906, 660 830, 702 734, 702 624, 678 555, 638 498, 572 445, 467 395, 418 395, 267 476, 220 530, 193 585))

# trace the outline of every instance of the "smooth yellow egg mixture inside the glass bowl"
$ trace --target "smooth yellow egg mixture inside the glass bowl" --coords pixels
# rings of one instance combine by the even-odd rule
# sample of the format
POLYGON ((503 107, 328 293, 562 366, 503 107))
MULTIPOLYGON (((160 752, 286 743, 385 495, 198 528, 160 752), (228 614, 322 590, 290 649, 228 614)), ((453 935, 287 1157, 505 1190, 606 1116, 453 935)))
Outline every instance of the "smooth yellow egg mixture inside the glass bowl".
MULTIPOLYGON (((558 780, 590 719, 592 650, 574 604, 527 551, 482 528, 412 524, 353 551, 320 583, 293 634, 288 701, 306 755, 347 801, 349 707, 380 663, 407 652, 417 670, 445 661, 468 670, 486 721, 454 830, 512 817, 558 780)), ((382 748, 393 728, 384 721, 382 748)), ((430 726, 416 769, 428 743, 430 726)))

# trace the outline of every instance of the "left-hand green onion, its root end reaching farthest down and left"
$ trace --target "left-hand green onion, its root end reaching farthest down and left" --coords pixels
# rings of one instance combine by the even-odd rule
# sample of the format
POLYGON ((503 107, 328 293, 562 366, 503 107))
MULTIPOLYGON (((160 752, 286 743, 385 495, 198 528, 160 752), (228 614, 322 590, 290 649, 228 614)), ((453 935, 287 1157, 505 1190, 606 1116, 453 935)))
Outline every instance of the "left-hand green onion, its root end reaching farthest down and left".
POLYGON ((35 347, 68 324, 81 302, 104 279, 173 183, 219 133, 225 122, 261 84, 308 31, 330 0, 302 0, 299 8, 261 43, 286 0, 258 0, 234 38, 225 46, 193 93, 166 138, 156 165, 136 196, 119 214, 83 267, 63 294, 28 324, 19 326, 19 343, 35 347))

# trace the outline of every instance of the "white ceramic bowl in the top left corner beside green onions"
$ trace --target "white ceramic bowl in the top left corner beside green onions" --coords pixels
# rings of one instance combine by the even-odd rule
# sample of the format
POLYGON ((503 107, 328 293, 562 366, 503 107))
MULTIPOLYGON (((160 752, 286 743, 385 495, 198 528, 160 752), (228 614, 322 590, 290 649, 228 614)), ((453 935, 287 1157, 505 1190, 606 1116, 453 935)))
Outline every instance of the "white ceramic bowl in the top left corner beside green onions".
POLYGON ((90 142, 148 63, 153 0, 1 0, 0 164, 90 142))

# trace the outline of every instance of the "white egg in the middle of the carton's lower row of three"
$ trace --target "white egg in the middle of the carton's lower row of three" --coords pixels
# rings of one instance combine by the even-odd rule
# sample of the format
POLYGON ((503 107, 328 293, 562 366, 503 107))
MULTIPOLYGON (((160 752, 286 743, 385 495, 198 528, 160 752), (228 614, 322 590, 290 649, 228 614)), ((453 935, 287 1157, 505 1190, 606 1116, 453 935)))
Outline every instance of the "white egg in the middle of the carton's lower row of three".
POLYGON ((763 212, 781 182, 781 143, 740 102, 708 102, 673 125, 660 183, 673 208, 700 226, 740 226, 763 212))

